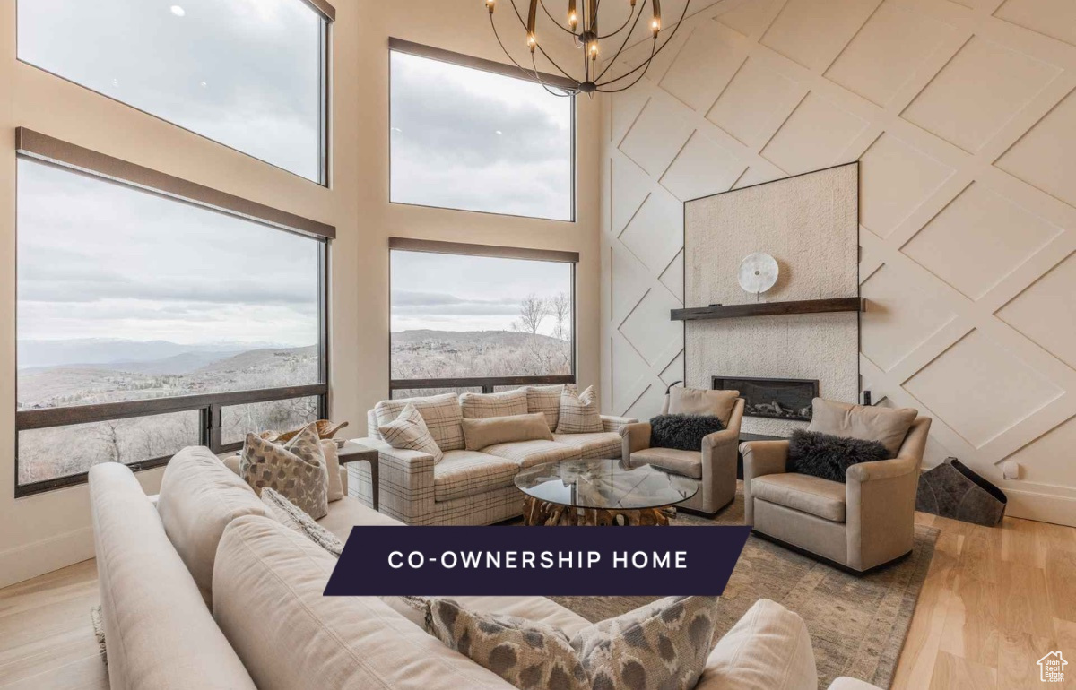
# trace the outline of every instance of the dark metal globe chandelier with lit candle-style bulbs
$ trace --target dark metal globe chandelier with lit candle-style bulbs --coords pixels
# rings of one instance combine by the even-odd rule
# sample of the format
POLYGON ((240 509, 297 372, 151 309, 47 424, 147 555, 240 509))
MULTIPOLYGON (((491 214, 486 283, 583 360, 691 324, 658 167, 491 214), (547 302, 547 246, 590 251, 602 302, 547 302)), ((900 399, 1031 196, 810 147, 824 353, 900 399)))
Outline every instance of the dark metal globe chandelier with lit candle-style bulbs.
MULTIPOLYGON (((607 30, 608 27, 599 25, 598 21, 598 10, 600 9, 601 0, 578 0, 578 2, 577 0, 567 0, 567 12, 562 15, 565 18, 564 24, 546 8, 546 0, 528 0, 529 6, 527 8, 526 18, 524 18, 520 9, 515 5, 515 0, 501 1, 509 2, 512 5, 512 11, 516 18, 519 18, 520 25, 526 31, 526 45, 530 51, 530 67, 524 67, 525 61, 524 64, 521 64, 512 57, 508 48, 505 47, 505 42, 501 41, 500 34, 497 32, 497 24, 493 20, 493 11, 497 0, 485 0, 485 6, 490 11, 490 26, 493 27, 493 33, 497 38, 497 43, 500 44, 500 48, 515 67, 526 72, 528 76, 536 80, 547 91, 554 96, 570 96, 580 92, 593 96, 595 91, 615 94, 617 91, 623 91, 635 86, 647 74, 650 63, 657 54, 676 35, 677 29, 680 28, 683 18, 688 15, 688 6, 691 4, 691 0, 685 0, 680 18, 672 26, 671 30, 663 31, 661 0, 641 0, 640 2, 628 0, 631 6, 628 8, 627 18, 614 31, 603 33, 601 31, 607 30), (650 4, 649 13, 647 12, 648 3, 650 4), (552 26, 547 26, 546 24, 542 27, 538 26, 539 6, 546 16, 549 17, 552 26), (632 69, 625 68, 625 71, 620 73, 611 73, 612 67, 620 62, 620 56, 624 52, 624 48, 627 47, 628 40, 635 33, 643 15, 649 15, 647 28, 650 31, 650 55, 632 69), (599 29, 599 26, 601 29, 599 29), (549 37, 540 37, 540 31, 548 31, 553 37, 561 37, 562 34, 571 37, 570 40, 575 43, 576 48, 582 52, 583 70, 581 78, 570 74, 568 70, 562 68, 549 56, 549 53, 542 47, 542 39, 549 37), (615 52, 606 54, 607 46, 609 45, 612 45, 615 52), (542 73, 538 70, 537 54, 539 53, 544 61, 553 67, 555 72, 563 75, 574 86, 564 86, 564 83, 560 80, 557 80, 555 85, 551 86, 547 84, 549 80, 543 78, 542 73), (598 62, 599 57, 601 58, 601 62, 598 62)), ((521 2, 523 1, 521 0, 521 2)), ((606 3, 618 0, 605 0, 606 3)), ((623 2, 623 0, 619 1, 623 2)), ((553 0, 550 0, 550 2, 552 3, 553 0)), ((608 15, 609 13, 607 12, 606 16, 608 15)))

